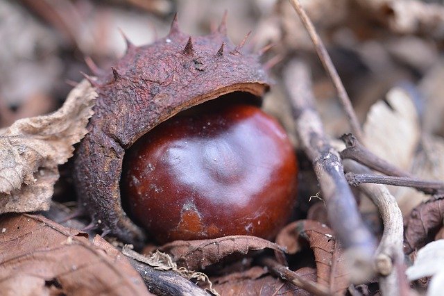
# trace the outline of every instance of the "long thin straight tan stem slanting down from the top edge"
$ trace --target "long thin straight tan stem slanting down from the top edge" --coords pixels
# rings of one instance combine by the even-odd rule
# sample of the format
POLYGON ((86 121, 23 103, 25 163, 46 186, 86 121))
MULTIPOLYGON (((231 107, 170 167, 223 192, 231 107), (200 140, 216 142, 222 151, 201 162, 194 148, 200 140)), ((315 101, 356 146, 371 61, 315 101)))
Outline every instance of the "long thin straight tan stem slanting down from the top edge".
POLYGON ((356 135, 356 137, 359 140, 362 140, 363 135, 362 135, 361 125, 359 124, 359 121, 355 114, 355 110, 353 110, 352 103, 350 102, 350 98, 348 97, 348 94, 345 91, 344 85, 341 79, 339 78, 338 72, 336 71, 336 68, 332 63, 332 59, 327 53, 327 49, 325 49, 325 45, 323 44, 321 38, 319 38, 318 33, 316 33, 316 29, 314 28, 313 23, 311 23, 311 20, 309 19, 307 13, 305 13, 305 10, 300 5, 300 2, 298 0, 289 0, 289 1, 293 6, 293 8, 296 10, 296 13, 298 13, 300 19, 302 20, 302 24, 304 24, 305 28, 307 28, 310 38, 314 43, 316 52, 319 58, 321 59, 321 62, 323 63, 325 70, 328 72, 333 81, 334 87, 338 92, 338 97, 341 101, 343 109, 345 110, 345 114, 348 117, 348 122, 350 123, 352 132, 356 135))

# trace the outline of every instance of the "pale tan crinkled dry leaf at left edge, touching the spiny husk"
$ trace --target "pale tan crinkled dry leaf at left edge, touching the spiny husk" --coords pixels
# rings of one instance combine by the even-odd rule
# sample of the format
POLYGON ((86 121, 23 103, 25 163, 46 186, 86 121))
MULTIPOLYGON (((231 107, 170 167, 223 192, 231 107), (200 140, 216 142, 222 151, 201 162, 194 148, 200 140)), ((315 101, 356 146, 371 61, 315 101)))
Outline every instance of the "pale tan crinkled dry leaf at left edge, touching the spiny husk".
POLYGON ((58 165, 73 155, 87 133, 97 94, 79 83, 62 108, 50 115, 17 120, 0 135, 0 213, 49 209, 58 165))

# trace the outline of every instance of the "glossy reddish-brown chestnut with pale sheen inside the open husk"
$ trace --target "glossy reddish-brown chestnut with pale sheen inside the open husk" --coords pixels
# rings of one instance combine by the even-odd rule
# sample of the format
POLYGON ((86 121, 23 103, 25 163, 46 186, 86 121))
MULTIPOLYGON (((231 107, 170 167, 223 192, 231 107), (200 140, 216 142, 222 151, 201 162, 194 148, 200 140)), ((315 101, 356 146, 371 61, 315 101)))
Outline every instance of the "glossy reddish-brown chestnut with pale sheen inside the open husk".
POLYGON ((228 104, 176 115, 139 139, 123 161, 122 199, 157 242, 270 239, 291 215, 296 174, 282 126, 256 106, 228 104))

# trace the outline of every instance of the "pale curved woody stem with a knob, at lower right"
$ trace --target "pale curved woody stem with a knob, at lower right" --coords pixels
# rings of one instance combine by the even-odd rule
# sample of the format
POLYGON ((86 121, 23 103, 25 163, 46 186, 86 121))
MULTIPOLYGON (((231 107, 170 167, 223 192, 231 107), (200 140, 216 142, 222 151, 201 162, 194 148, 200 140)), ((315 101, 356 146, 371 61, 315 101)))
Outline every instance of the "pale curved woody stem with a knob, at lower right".
MULTIPOLYGON (((345 160, 343 164, 345 172, 371 172, 368 167, 355 161, 345 160)), ((379 287, 383 295, 403 295, 400 286, 406 286, 407 279, 404 273, 400 274, 402 268, 399 268, 399 265, 404 264, 402 251, 404 224, 401 210, 386 186, 363 184, 359 189, 377 206, 384 222, 384 231, 375 254, 375 266, 380 274, 379 287)))

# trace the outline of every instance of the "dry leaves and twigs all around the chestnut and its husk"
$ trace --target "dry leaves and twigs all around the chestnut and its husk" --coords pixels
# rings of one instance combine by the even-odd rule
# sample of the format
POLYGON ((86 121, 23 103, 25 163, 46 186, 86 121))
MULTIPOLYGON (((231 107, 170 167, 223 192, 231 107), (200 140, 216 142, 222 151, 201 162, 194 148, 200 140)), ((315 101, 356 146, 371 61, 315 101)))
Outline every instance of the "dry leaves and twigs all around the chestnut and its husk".
POLYGON ((300 2, 315 47, 292 8, 298 1, 1 2, 0 290, 439 295, 444 4, 300 2), (81 72, 121 56, 119 27, 139 45, 165 35, 173 13, 198 35, 224 10, 234 42, 253 29, 246 46, 267 49, 276 83, 264 110, 285 126, 300 159, 291 222, 273 241, 228 236, 133 249, 99 236, 76 212, 71 181, 70 158, 97 96, 81 72), (337 73, 324 70, 332 68, 321 40, 337 73))

